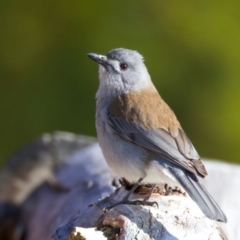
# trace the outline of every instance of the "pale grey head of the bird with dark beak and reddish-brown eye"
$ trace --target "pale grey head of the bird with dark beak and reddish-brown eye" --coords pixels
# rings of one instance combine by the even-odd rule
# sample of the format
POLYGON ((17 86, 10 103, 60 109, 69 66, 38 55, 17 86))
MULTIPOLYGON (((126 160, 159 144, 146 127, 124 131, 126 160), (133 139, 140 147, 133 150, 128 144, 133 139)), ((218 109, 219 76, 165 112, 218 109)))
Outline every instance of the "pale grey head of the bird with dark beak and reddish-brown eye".
POLYGON ((89 53, 88 56, 99 64, 100 87, 126 93, 152 84, 143 57, 137 51, 117 48, 106 55, 89 53))

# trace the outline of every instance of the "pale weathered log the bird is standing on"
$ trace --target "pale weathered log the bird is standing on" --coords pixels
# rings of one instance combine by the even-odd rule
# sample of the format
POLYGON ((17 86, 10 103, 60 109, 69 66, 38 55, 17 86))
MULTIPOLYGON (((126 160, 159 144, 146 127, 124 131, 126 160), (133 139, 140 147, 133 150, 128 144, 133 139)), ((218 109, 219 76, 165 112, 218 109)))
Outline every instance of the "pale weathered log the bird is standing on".
MULTIPOLYGON (((21 239, 22 235, 25 240, 51 237, 76 240, 81 239, 80 233, 85 234, 85 239, 94 239, 91 234, 100 234, 101 237, 96 239, 104 239, 103 232, 108 239, 227 239, 224 233, 226 230, 229 239, 240 239, 239 166, 205 161, 209 176, 203 183, 226 213, 226 225, 207 219, 191 199, 183 196, 154 194, 151 200, 157 201, 159 207, 118 205, 104 212, 104 207, 118 201, 127 192, 123 187, 114 192, 116 187, 113 185, 113 177, 98 144, 93 143, 93 139, 84 141, 84 138, 76 135, 66 137, 63 133, 55 135, 54 139, 54 151, 51 147, 50 155, 61 161, 54 160, 54 166, 49 168, 49 164, 45 164, 45 167, 46 171, 51 169, 54 172, 55 179, 65 190, 50 186, 45 183, 46 179, 39 179, 41 184, 31 188, 31 191, 29 186, 32 185, 29 184, 29 195, 17 204, 18 210, 15 212, 18 220, 17 223, 13 221, 10 228, 13 236, 11 239, 21 239), (56 141, 61 144, 56 144, 56 141), (103 200, 99 202, 101 199, 103 200), (95 227, 101 231, 96 232, 95 227), (91 237, 87 238, 88 235, 91 237)), ((32 148, 32 145, 29 146, 32 148)), ((42 159, 43 162, 45 160, 42 159)), ((24 166, 23 159, 21 161, 24 166)), ((42 175, 37 174, 37 169, 38 167, 34 169, 34 173, 39 178, 42 175)), ((17 173, 16 170, 11 171, 12 178, 17 173)), ((25 174, 30 176, 31 172, 25 174)), ((3 175, 0 173, 0 186, 12 186, 12 183, 4 181, 1 176, 3 175)), ((11 194, 15 196, 14 199, 16 195, 11 194)), ((137 199, 139 196, 135 194, 133 198, 137 199)), ((0 221, 1 218, 4 221, 1 206, 5 206, 6 199, 3 201, 0 198, 0 201, 0 221)))

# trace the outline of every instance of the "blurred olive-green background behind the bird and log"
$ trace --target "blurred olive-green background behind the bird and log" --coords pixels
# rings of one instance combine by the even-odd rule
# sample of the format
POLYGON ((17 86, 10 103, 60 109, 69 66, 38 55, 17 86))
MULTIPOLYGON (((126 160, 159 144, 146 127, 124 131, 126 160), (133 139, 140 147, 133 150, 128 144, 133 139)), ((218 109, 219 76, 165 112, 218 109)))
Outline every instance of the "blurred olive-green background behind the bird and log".
POLYGON ((240 162, 240 2, 0 1, 0 162, 43 132, 96 135, 88 52, 138 50, 202 157, 240 162))

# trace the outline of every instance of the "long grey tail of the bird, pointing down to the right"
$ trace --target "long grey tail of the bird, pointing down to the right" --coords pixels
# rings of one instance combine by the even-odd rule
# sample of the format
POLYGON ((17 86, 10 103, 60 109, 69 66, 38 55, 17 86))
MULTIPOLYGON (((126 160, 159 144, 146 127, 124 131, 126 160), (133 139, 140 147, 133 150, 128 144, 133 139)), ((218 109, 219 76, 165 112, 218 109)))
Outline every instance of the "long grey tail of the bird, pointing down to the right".
POLYGON ((202 212, 208 218, 220 222, 227 222, 225 214, 207 190, 198 181, 195 174, 191 172, 184 172, 178 168, 171 168, 169 170, 174 174, 188 195, 197 203, 202 212))

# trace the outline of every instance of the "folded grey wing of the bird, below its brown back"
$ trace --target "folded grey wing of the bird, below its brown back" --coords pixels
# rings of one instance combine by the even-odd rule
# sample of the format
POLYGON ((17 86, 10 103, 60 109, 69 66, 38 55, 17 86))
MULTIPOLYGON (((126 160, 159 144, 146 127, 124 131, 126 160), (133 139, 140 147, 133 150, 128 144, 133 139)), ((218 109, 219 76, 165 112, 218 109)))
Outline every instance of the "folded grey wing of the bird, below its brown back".
POLYGON ((198 153, 182 129, 148 129, 142 124, 119 118, 111 112, 108 112, 108 122, 112 130, 125 140, 146 148, 201 177, 207 175, 198 153))

